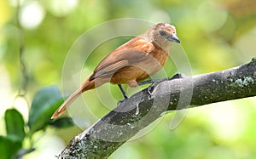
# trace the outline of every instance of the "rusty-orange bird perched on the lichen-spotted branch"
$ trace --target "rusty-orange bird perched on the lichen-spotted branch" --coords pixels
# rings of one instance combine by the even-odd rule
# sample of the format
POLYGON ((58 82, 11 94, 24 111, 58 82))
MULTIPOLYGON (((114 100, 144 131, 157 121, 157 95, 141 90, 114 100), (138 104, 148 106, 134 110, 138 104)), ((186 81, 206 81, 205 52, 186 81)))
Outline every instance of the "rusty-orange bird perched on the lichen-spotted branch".
POLYGON ((143 34, 114 49, 97 66, 81 86, 55 111, 51 119, 61 116, 80 94, 106 82, 117 84, 127 99, 121 84, 131 88, 154 75, 165 65, 172 43, 180 43, 175 26, 158 23, 143 34))

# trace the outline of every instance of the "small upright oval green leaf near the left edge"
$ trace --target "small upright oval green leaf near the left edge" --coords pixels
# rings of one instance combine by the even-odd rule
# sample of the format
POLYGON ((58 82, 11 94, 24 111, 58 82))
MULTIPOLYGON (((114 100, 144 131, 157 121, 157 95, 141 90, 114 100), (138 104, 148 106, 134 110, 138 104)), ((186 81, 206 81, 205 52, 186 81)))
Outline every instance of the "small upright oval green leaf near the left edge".
POLYGON ((5 127, 8 136, 15 136, 22 141, 26 133, 24 131, 25 122, 20 112, 15 109, 5 111, 5 127))

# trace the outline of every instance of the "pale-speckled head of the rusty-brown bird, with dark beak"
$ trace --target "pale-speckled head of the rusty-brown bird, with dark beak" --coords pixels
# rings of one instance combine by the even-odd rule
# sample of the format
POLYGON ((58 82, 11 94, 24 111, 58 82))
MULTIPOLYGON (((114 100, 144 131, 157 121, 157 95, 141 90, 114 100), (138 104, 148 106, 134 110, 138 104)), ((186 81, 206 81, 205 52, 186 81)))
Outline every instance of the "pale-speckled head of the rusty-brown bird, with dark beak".
POLYGON ((177 35, 175 26, 169 25, 167 23, 159 23, 155 26, 152 26, 147 31, 148 40, 152 43, 155 43, 160 48, 169 50, 172 43, 180 43, 177 35))

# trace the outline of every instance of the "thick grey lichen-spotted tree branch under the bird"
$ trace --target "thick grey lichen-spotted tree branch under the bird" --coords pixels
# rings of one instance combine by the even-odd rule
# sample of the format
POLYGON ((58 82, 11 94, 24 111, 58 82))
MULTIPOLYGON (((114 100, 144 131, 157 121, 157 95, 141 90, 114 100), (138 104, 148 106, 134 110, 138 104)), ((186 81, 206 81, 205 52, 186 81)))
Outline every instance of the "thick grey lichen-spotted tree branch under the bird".
POLYGON ((166 111, 256 95, 256 58, 229 70, 166 80, 126 99, 72 139, 59 158, 108 158, 166 111))

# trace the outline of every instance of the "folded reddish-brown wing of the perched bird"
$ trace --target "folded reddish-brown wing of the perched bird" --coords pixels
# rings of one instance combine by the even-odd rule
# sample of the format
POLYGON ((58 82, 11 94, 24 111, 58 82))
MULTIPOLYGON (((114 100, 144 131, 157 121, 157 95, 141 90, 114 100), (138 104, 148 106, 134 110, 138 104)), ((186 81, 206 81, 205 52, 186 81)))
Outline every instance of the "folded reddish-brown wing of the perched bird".
MULTIPOLYGON (((139 48, 139 46, 137 47, 139 48)), ((96 77, 111 77, 116 71, 120 71, 129 65, 136 65, 142 60, 147 60, 150 58, 150 54, 148 53, 153 49, 154 45, 152 43, 142 43, 141 51, 131 48, 114 51, 113 54, 108 54, 108 56, 100 62, 91 75, 90 80, 96 77), (148 47, 147 45, 150 46, 148 47)))

